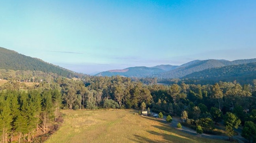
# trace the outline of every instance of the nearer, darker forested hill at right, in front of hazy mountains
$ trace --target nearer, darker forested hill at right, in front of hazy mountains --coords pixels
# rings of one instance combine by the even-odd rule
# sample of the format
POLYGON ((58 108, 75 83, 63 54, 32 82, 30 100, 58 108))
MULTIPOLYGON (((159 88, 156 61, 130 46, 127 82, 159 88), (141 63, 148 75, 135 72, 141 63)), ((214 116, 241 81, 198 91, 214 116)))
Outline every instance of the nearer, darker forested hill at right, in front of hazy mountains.
POLYGON ((188 79, 191 83, 196 82, 197 84, 213 84, 219 81, 233 82, 235 80, 241 84, 252 83, 252 80, 256 79, 256 62, 193 72, 184 76, 183 79, 188 79))

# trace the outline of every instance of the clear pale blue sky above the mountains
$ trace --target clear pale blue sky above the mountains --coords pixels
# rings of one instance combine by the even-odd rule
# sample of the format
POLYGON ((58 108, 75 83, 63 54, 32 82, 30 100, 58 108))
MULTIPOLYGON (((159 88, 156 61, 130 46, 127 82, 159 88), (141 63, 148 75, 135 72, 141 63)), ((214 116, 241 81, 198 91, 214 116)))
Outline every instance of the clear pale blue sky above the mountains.
POLYGON ((0 47, 86 74, 256 58, 256 0, 0 0, 0 47))

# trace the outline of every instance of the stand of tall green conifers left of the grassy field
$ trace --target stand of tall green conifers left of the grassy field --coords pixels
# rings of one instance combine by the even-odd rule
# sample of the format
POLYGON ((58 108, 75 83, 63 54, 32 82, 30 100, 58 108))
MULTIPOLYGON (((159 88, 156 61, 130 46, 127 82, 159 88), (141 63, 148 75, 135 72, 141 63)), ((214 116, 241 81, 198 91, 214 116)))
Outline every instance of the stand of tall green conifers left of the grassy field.
POLYGON ((36 130, 46 132, 50 122, 59 117, 61 92, 57 89, 0 92, 0 134, 2 142, 30 141, 36 130))

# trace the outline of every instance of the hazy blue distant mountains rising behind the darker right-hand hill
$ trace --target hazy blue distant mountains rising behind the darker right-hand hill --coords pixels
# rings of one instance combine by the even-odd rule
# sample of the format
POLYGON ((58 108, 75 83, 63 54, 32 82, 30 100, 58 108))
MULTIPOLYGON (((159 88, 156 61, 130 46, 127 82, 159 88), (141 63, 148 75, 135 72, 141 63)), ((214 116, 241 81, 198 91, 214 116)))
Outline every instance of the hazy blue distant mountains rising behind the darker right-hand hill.
MULTIPOLYGON (((183 78, 189 74, 206 69, 219 68, 231 65, 256 63, 256 58, 247 60, 194 60, 180 66, 157 65, 155 67, 129 67, 122 70, 100 72, 95 76, 127 76, 127 77, 157 77, 160 79, 183 78)), ((246 66, 246 65, 245 65, 246 66)), ((223 69, 224 70, 224 69, 223 69)), ((221 70, 219 72, 222 72, 221 70)), ((201 75, 202 76, 202 75, 201 75)))

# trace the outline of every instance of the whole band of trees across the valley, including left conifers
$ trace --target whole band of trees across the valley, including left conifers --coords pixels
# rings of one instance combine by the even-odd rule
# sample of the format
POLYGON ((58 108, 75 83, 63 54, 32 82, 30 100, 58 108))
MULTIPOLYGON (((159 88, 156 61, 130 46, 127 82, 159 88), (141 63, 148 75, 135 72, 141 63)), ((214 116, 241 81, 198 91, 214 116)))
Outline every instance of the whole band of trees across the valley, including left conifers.
POLYGON ((30 87, 18 81, 7 82, 0 91, 2 141, 21 135, 29 140, 36 129, 47 130, 48 123, 57 120, 60 108, 148 107, 152 112, 181 116, 184 123, 200 126, 204 132, 210 132, 207 129, 213 129, 214 124, 223 120, 230 137, 241 123, 245 126, 243 136, 255 141, 256 80, 252 85, 235 81, 212 85, 146 85, 141 80, 121 76, 88 76, 82 80, 52 76, 49 81, 30 87), (27 120, 24 123, 20 118, 27 120))

